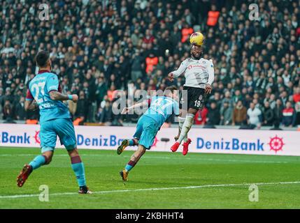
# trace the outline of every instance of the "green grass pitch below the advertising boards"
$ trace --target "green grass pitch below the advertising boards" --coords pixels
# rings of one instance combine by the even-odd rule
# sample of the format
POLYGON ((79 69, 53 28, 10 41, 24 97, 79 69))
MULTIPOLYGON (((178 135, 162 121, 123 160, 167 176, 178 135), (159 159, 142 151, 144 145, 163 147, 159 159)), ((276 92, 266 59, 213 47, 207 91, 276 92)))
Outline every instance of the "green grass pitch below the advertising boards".
POLYGON ((119 171, 133 151, 81 149, 88 195, 77 194, 63 149, 17 187, 20 169, 39 153, 0 147, 0 208, 300 208, 300 157, 148 152, 123 183, 119 171), (257 202, 250 183, 260 183, 257 202), (48 202, 38 199, 40 185, 49 187, 48 202))

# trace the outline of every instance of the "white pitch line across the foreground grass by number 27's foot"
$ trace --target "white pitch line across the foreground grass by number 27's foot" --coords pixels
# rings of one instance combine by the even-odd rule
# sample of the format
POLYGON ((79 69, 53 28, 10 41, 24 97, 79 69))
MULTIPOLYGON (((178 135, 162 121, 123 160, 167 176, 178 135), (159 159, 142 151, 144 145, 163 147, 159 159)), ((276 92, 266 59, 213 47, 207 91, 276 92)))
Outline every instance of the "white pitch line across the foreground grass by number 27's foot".
MULTIPOLYGON (((136 190, 103 190, 92 192, 93 194, 113 194, 113 193, 122 193, 122 192, 141 192, 141 191, 152 191, 152 190, 180 190, 180 189, 197 189, 197 188, 206 188, 206 187, 237 187, 237 186, 248 186, 248 185, 280 185, 280 184, 296 184, 300 181, 292 182, 270 182, 270 183, 236 183, 236 184, 215 184, 215 185, 199 185, 199 186, 187 186, 187 187, 155 187, 155 188, 142 188, 136 190)), ((49 194, 49 196, 59 196, 59 195, 75 195, 76 192, 66 192, 66 193, 55 193, 49 194)), ((0 199, 14 199, 14 198, 23 198, 23 197, 38 197, 40 194, 20 194, 20 195, 8 195, 0 196, 0 199)), ((87 195, 89 196, 89 195, 87 195)))

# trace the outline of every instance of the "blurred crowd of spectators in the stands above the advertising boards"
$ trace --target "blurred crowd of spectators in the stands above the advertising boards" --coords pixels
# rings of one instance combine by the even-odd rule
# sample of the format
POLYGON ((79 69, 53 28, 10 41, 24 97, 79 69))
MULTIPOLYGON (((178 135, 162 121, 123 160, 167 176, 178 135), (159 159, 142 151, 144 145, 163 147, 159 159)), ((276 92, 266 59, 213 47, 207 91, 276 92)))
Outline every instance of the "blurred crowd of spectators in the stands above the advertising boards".
POLYGON ((134 123, 138 114, 113 114, 117 92, 182 89, 184 77, 166 77, 201 31, 215 82, 196 125, 300 125, 300 1, 50 0, 43 21, 40 3, 1 0, 0 119, 38 119, 38 111, 24 112, 24 96, 43 49, 62 91, 79 95, 69 102, 76 125, 134 123), (259 7, 256 20, 250 3, 259 7))

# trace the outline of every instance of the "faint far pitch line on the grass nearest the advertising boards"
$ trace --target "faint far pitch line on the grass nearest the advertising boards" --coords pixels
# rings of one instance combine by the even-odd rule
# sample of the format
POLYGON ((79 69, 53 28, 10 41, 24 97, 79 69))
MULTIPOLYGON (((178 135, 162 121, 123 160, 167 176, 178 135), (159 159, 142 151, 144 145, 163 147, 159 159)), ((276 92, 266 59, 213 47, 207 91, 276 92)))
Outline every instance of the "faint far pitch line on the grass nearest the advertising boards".
MULTIPOLYGON (((1 156, 34 156, 36 154, 0 154, 1 156)), ((54 156, 62 156, 62 157, 68 157, 69 155, 67 154, 57 154, 54 156)), ((99 157, 104 157, 104 156, 109 156, 111 155, 101 155, 101 154, 85 154, 81 155, 82 157, 85 156, 99 156, 99 157)), ((130 155, 123 155, 122 157, 130 157, 130 155)), ((260 160, 234 160, 234 159, 217 159, 217 158, 202 158, 202 157, 197 157, 197 158, 191 158, 191 157, 163 157, 163 156, 144 156, 143 159, 163 159, 163 160, 173 160, 173 159, 184 159, 184 160, 204 160, 204 161, 219 161, 219 162, 254 162, 254 163, 288 163, 287 161, 260 161, 260 160)))

